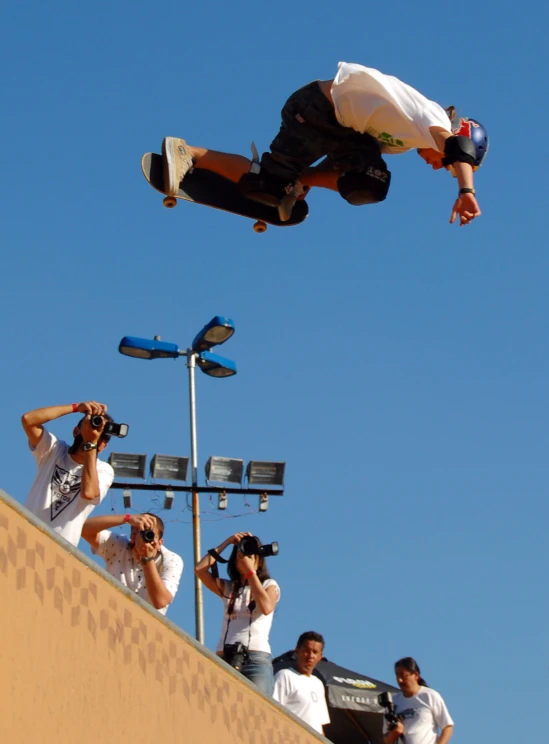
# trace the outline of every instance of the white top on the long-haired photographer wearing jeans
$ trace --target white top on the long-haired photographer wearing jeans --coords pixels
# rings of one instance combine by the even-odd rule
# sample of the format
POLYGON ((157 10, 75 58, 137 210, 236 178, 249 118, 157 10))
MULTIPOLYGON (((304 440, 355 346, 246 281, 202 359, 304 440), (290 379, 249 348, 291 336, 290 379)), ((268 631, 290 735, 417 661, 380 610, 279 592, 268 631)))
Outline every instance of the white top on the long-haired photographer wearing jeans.
MULTIPOLYGON (((252 600, 252 596, 250 587, 245 586, 236 597, 233 611, 229 617, 227 609, 231 596, 231 582, 224 581, 223 586, 225 594, 228 596, 223 597, 223 625, 217 644, 217 652, 220 653, 223 651, 223 646, 226 643, 242 643, 250 651, 265 651, 270 654, 269 633, 273 624, 274 610, 268 615, 264 615, 258 607, 255 607, 251 613, 252 622, 250 623, 248 605, 252 600)), ((267 581, 263 582, 264 589, 267 589, 269 586, 275 587, 276 601, 278 602, 280 599, 280 587, 274 579, 267 579, 267 581)))

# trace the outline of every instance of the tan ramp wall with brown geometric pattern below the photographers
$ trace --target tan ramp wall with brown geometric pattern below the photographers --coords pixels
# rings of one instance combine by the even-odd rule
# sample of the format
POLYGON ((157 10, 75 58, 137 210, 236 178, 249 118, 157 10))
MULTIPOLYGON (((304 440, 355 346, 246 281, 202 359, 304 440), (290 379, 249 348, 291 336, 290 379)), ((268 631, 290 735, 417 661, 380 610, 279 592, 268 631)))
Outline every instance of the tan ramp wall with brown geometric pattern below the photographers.
POLYGON ((0 592, 3 741, 326 741, 3 491, 0 592))

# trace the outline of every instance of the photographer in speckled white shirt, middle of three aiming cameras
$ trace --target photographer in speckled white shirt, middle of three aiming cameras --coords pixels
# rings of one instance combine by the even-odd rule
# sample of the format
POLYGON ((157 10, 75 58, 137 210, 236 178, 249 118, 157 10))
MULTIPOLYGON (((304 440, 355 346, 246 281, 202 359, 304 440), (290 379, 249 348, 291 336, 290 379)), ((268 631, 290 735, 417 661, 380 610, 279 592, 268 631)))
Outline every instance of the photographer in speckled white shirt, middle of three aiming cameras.
POLYGON ((91 517, 82 537, 105 568, 163 615, 168 611, 181 574, 183 559, 164 547, 164 522, 156 514, 105 514, 91 517), (129 524, 130 539, 110 530, 129 524))

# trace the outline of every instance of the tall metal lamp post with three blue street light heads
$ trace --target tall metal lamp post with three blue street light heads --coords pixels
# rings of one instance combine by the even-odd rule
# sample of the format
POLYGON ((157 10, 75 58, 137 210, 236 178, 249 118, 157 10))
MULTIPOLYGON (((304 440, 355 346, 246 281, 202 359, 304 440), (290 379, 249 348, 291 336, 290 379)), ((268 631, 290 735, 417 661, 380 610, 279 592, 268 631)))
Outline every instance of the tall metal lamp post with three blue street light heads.
MULTIPOLYGON (((192 468, 192 510, 193 510, 193 545, 195 565, 201 558, 200 550, 200 503, 196 490, 198 486, 198 448, 196 437, 196 395, 194 384, 194 371, 198 367, 204 374, 210 377, 231 377, 236 374, 236 365, 230 359, 225 359, 217 354, 212 354, 210 349, 225 343, 234 333, 234 323, 229 318, 216 315, 195 336, 192 345, 186 351, 181 350, 177 344, 162 341, 158 336, 154 339, 136 338, 135 336, 124 336, 118 346, 118 351, 126 356, 137 359, 177 359, 180 356, 187 357, 187 368, 189 370, 189 408, 191 421, 191 468, 192 468)), ((196 639, 204 643, 204 610, 202 603, 202 584, 195 575, 195 623, 196 639)))

